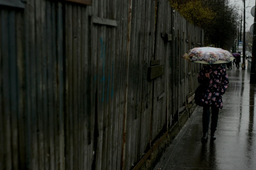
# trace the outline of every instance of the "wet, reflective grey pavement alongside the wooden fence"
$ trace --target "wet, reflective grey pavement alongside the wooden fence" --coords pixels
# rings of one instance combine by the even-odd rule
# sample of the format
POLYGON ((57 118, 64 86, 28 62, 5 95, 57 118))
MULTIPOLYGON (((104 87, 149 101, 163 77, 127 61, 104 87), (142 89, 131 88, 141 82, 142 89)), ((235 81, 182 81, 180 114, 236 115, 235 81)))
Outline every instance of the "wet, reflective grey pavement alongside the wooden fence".
POLYGON ((203 109, 198 106, 154 170, 256 170, 256 86, 249 84, 247 69, 233 67, 227 72, 230 83, 223 95, 216 140, 201 142, 203 109))

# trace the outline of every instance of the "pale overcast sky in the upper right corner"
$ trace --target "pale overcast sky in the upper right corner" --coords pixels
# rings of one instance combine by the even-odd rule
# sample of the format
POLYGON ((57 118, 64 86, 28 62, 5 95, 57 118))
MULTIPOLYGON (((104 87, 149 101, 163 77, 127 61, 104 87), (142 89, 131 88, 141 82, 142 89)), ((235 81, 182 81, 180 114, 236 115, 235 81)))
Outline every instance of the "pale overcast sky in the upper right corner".
MULTIPOLYGON (((230 0, 232 3, 236 3, 237 5, 239 5, 241 7, 241 9, 243 9, 244 7, 244 3, 242 0, 230 0)), ((251 8, 255 6, 255 0, 246 0, 245 1, 245 7, 246 8, 246 13, 245 13, 245 16, 246 16, 246 30, 249 30, 250 29, 250 26, 253 24, 253 21, 254 21, 254 17, 251 16, 251 8), (248 6, 251 6, 251 7, 248 7, 248 6)), ((244 13, 244 11, 243 11, 244 13)), ((241 16, 241 13, 239 14, 241 16)), ((243 26, 242 26, 243 27, 243 26)))

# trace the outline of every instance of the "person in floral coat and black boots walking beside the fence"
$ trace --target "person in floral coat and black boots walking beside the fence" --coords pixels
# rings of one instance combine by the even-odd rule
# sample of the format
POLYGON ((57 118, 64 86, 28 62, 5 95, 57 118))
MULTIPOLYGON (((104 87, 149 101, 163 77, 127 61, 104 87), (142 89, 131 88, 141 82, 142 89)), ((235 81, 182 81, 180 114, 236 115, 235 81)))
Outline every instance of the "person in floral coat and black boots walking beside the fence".
POLYGON ((201 140, 208 140, 210 108, 212 109, 211 140, 215 140, 219 109, 222 109, 222 95, 229 85, 228 74, 226 69, 219 64, 206 65, 200 71, 197 80, 204 87, 199 96, 200 106, 203 106, 203 137, 201 140))

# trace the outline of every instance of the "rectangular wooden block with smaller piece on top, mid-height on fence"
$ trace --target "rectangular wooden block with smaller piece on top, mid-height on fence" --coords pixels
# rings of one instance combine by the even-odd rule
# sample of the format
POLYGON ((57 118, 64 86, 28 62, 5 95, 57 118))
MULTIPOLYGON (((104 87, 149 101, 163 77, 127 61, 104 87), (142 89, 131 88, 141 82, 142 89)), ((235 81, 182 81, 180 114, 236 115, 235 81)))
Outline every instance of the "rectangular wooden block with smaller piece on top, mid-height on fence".
POLYGON ((148 79, 152 80, 164 75, 165 64, 161 64, 161 60, 151 60, 148 68, 148 79))

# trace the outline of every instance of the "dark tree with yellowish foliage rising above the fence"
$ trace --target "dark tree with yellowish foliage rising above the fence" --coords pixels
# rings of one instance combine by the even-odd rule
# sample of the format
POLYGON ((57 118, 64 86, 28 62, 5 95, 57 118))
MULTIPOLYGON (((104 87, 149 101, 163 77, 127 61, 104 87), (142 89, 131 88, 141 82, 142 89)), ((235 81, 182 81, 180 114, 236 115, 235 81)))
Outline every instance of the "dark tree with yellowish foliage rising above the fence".
POLYGON ((236 39, 240 15, 229 0, 170 0, 172 7, 195 26, 204 29, 204 44, 226 50, 236 39))

